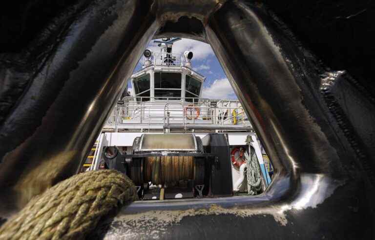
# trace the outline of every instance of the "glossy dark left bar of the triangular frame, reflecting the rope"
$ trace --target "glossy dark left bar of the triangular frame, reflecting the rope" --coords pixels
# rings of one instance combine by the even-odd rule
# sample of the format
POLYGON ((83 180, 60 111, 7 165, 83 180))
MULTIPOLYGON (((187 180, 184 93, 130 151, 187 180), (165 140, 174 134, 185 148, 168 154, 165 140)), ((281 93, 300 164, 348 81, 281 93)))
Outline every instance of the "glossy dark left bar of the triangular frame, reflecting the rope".
POLYGON ((79 171, 135 56, 160 26, 150 7, 137 0, 90 2, 71 22, 53 24, 69 26, 54 30, 62 31, 54 47, 44 35, 35 41, 48 51, 38 53, 44 63, 0 129, 4 215, 79 171))

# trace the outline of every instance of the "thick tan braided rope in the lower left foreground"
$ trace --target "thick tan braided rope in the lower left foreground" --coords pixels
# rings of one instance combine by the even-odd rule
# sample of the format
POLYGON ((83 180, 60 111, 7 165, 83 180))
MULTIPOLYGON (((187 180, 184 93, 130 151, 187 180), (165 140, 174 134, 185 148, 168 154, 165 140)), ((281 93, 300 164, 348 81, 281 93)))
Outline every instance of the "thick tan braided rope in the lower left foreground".
POLYGON ((0 239, 83 239, 118 203, 136 198, 133 182, 120 172, 81 173, 30 200, 1 226, 0 239))

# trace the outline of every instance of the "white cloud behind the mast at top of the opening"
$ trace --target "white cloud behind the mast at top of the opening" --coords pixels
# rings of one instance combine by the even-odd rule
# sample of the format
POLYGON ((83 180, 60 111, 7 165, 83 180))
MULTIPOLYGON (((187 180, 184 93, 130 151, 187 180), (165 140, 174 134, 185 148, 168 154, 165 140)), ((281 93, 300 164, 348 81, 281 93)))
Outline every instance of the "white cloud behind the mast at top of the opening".
MULTIPOLYGON (((160 47, 158 47, 158 44, 154 43, 153 40, 148 44, 147 49, 150 49, 152 52, 160 52, 160 47)), ((188 50, 193 52, 193 59, 195 60, 202 60, 210 55, 215 55, 209 44, 191 39, 176 41, 173 44, 172 53, 184 53, 188 50)))

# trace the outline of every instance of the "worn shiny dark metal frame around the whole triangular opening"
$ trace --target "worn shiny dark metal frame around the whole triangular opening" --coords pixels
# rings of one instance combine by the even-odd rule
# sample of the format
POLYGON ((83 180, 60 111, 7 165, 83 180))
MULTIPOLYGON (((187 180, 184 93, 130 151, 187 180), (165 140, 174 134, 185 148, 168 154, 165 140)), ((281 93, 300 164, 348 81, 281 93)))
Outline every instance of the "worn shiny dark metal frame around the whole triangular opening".
POLYGON ((77 171, 156 33, 211 44, 272 160, 273 182, 255 197, 132 203, 93 235, 373 238, 371 186, 322 99, 315 62, 267 11, 242 0, 140 2, 89 3, 46 48, 0 129, 1 216, 77 171))

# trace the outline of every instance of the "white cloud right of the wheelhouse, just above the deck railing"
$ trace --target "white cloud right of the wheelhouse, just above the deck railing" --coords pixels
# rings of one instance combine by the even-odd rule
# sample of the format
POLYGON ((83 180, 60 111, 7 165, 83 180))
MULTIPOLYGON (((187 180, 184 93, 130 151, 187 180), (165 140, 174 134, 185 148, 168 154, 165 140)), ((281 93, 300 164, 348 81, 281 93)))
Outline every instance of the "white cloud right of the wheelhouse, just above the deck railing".
POLYGON ((203 87, 202 97, 208 99, 236 99, 227 78, 217 79, 210 86, 203 87))

